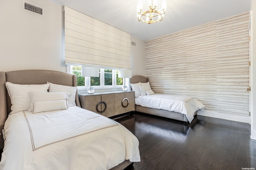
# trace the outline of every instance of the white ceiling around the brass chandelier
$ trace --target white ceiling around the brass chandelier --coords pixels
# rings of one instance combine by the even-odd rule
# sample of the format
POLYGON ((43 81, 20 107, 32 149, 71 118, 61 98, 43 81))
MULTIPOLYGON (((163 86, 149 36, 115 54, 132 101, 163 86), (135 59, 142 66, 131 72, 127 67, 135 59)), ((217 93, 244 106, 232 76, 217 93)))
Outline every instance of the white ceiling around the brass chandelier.
MULTIPOLYGON (((162 21, 136 18, 137 0, 52 0, 148 41, 250 10, 251 0, 167 0, 162 21)), ((146 0, 148 3, 148 0, 146 0)))

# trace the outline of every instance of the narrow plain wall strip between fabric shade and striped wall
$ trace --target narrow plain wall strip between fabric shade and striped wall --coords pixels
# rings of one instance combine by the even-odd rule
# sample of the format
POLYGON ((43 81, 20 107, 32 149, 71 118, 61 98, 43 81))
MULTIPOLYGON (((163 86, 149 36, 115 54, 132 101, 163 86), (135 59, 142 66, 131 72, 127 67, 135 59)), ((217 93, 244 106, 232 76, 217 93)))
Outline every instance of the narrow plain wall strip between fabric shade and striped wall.
POLYGON ((132 76, 145 76, 145 41, 131 35, 131 41, 136 42, 136 47, 131 45, 132 76))

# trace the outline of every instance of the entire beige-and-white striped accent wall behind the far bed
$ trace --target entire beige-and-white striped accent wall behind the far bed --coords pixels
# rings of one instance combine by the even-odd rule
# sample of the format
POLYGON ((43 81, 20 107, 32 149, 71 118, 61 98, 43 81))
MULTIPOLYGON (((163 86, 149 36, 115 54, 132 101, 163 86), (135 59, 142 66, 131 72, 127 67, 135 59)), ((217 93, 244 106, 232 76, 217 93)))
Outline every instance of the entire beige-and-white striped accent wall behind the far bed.
POLYGON ((206 110, 249 116, 250 12, 146 41, 155 93, 196 98, 206 110))

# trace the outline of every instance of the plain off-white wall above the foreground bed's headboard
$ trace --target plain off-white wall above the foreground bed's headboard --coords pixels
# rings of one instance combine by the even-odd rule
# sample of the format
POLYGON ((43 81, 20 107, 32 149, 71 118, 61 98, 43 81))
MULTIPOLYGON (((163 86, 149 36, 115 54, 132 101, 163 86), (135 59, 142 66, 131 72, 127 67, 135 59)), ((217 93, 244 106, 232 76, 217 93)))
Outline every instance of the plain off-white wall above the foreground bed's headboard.
POLYGON ((0 0, 0 71, 47 69, 66 72, 62 6, 26 0, 44 16, 22 9, 22 0, 0 0))

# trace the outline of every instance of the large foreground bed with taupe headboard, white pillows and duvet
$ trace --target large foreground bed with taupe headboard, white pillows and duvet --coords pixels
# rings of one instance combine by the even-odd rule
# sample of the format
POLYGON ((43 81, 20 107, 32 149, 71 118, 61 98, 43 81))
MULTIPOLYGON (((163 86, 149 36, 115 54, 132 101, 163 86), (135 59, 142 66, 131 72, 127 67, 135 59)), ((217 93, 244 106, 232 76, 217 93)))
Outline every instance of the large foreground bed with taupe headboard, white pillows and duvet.
POLYGON ((57 71, 0 72, 0 169, 124 169, 140 161, 138 139, 80 108, 76 84, 57 71))

